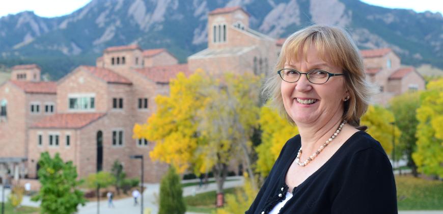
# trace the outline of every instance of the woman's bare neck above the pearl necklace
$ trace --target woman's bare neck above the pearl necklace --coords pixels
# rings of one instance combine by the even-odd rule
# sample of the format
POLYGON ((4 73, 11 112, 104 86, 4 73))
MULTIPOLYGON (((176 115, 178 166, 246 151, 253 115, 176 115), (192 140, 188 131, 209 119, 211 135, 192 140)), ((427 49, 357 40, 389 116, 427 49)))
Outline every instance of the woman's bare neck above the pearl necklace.
POLYGON ((342 121, 343 119, 340 115, 334 115, 326 123, 297 124, 301 137, 302 155, 309 156, 315 152, 334 134, 342 121))

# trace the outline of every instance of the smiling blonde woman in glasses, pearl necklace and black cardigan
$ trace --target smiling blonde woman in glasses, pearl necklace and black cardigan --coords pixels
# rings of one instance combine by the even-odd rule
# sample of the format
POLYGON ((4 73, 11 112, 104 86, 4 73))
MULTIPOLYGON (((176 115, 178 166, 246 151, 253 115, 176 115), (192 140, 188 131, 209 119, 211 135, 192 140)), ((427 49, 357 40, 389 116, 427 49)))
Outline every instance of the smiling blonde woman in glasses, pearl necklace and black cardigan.
POLYGON ((283 147, 246 213, 397 213, 391 163, 359 126, 371 89, 341 29, 314 25, 283 44, 265 86, 299 135, 283 147))

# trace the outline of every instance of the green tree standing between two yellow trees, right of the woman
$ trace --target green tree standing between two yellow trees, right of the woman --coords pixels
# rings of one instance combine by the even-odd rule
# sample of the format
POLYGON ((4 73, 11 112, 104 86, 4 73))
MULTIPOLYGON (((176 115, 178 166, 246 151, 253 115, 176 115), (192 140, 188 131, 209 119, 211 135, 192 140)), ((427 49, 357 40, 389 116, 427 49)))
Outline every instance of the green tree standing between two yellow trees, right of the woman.
POLYGON ((394 97, 390 101, 390 109, 394 113, 395 124, 401 130, 401 135, 396 148, 396 153, 407 157, 407 166, 412 169, 412 174, 417 177, 417 165, 412 159, 412 152, 416 150, 416 131, 419 121, 416 117, 420 106, 420 94, 405 93, 394 97))

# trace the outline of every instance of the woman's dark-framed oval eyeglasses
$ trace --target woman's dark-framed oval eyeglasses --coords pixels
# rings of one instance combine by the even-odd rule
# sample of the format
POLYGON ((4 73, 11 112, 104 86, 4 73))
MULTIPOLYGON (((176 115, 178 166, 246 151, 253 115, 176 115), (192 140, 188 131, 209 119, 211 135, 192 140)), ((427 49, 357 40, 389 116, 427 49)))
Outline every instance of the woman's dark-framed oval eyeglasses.
POLYGON ((301 74, 306 74, 308 81, 313 84, 324 84, 328 81, 331 76, 342 76, 344 73, 329 73, 324 70, 310 70, 306 73, 302 73, 295 69, 285 68, 277 71, 277 73, 282 77, 283 81, 288 83, 295 83, 300 79, 301 74))

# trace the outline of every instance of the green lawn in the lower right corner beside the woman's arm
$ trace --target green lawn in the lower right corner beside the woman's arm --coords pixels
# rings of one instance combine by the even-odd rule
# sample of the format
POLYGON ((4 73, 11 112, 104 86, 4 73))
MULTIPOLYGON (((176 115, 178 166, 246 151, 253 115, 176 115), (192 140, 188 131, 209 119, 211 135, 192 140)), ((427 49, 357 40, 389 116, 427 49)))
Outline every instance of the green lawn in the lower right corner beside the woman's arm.
POLYGON ((443 210, 443 181, 396 176, 399 210, 443 210))

